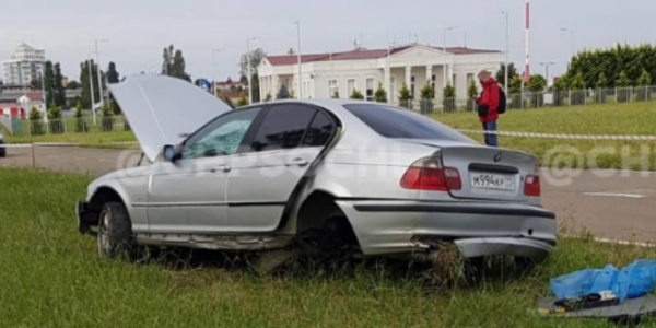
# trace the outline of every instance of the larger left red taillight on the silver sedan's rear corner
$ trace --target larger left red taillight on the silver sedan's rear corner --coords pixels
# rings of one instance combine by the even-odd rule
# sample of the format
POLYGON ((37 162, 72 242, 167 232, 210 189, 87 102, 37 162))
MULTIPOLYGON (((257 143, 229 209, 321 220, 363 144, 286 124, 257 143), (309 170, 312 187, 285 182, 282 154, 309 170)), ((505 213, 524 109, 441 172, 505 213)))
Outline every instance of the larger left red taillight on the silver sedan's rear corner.
POLYGON ((412 164, 401 178, 405 189, 449 191, 462 189, 457 168, 442 167, 440 159, 422 159, 412 164))

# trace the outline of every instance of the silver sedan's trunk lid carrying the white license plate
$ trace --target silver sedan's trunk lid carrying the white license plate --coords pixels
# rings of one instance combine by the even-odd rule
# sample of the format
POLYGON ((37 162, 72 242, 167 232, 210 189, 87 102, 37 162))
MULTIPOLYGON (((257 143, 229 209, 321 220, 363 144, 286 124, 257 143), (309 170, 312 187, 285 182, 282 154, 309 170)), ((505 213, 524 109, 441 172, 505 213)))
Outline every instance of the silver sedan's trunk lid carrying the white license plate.
POLYGON ((539 161, 534 155, 460 142, 403 141, 438 148, 444 167, 458 169, 462 187, 449 190, 454 198, 517 202, 530 199, 524 195, 524 181, 527 175, 538 173, 539 161))

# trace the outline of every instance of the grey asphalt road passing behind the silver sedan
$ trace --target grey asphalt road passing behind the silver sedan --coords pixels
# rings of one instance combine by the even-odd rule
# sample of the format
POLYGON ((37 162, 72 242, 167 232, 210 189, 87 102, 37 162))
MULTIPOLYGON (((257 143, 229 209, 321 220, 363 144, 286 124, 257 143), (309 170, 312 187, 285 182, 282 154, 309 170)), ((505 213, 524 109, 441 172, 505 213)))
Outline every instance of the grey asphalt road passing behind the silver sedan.
MULTIPOLYGON (((91 148, 8 149, 0 166, 27 166, 99 176, 134 166, 138 151, 91 148)), ((542 171, 542 201, 569 234, 656 242, 656 173, 542 171), (565 176, 563 179, 562 176, 565 176), (554 178, 559 177, 559 178, 554 178), (569 180, 570 179, 570 180, 569 180)))

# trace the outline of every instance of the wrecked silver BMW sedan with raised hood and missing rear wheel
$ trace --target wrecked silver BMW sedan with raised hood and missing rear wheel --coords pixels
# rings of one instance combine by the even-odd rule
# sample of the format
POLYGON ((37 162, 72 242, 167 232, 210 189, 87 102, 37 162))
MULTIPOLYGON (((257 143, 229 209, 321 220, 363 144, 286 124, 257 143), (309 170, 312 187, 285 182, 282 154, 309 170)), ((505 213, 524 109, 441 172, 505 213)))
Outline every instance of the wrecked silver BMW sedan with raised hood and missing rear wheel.
POLYGON ((97 235, 103 256, 134 244, 301 244, 429 259, 453 243, 467 258, 541 260, 557 243, 535 156, 411 110, 340 99, 230 110, 192 84, 151 75, 112 92, 153 164, 98 178, 78 204, 79 231, 97 235))

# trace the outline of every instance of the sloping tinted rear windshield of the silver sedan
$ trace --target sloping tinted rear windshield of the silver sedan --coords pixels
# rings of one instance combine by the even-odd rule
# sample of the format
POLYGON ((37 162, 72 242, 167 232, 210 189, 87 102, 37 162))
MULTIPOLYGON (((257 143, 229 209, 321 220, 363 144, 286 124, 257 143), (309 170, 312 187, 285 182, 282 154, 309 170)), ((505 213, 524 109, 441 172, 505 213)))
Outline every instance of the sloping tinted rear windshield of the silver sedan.
POLYGON ((431 139, 473 142, 434 119, 384 105, 344 105, 378 134, 390 139, 431 139))

